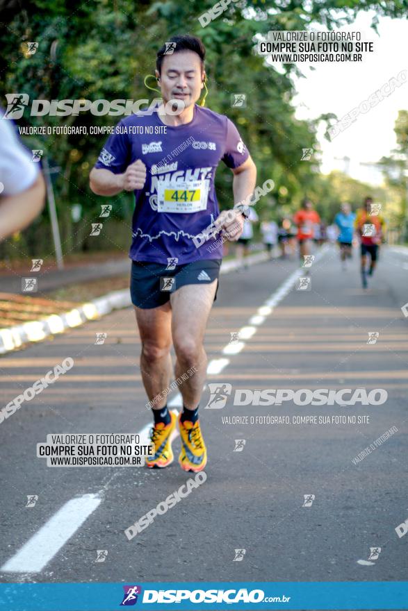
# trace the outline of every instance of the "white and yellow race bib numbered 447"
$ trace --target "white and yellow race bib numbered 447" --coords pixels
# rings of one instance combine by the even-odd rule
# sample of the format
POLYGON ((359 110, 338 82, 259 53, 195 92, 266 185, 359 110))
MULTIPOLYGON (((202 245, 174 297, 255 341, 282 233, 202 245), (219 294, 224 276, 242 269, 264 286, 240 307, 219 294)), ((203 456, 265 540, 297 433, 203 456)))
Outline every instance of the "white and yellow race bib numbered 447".
POLYGON ((206 210, 209 181, 159 181, 157 185, 158 212, 199 212, 206 210))

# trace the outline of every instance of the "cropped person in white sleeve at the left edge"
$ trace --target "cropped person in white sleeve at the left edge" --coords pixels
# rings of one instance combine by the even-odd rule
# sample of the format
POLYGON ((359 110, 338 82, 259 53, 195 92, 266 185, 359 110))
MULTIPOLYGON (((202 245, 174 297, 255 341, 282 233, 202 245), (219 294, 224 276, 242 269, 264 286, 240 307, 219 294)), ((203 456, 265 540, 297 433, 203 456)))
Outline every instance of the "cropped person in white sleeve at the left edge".
POLYGON ((0 242, 24 229, 44 207, 44 178, 0 114, 0 242))

